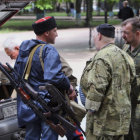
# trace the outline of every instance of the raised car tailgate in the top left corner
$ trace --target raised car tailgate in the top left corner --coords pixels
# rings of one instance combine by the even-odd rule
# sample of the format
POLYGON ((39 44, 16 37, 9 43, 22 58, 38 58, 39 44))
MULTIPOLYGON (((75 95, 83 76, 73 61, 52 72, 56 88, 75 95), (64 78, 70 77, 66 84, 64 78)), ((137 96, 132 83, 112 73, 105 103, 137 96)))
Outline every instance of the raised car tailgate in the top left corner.
POLYGON ((0 0, 0 26, 35 0, 0 0))

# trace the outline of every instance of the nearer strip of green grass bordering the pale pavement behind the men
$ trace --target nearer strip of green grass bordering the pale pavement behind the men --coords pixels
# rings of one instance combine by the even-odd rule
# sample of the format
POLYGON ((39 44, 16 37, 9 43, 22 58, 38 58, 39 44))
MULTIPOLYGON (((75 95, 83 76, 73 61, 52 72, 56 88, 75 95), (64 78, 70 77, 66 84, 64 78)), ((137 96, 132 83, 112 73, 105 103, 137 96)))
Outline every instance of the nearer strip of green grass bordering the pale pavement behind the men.
MULTIPOLYGON (((18 31, 28 31, 28 30, 32 30, 32 23, 35 20, 33 19, 28 19, 28 20, 14 20, 11 19, 8 22, 6 22, 3 26, 0 27, 0 33, 4 33, 4 32, 18 32, 18 31)), ((85 26, 85 20, 81 20, 81 22, 79 24, 77 24, 76 20, 56 20, 57 25, 58 25, 58 29, 66 29, 66 28, 82 28, 82 27, 86 27, 85 26)), ((120 20, 119 19, 109 19, 108 23, 112 24, 112 25, 116 25, 116 24, 120 24, 120 20)), ((100 19, 100 20, 96 20, 93 19, 93 21, 91 22, 91 26, 95 27, 99 24, 104 23, 104 19, 100 19)))

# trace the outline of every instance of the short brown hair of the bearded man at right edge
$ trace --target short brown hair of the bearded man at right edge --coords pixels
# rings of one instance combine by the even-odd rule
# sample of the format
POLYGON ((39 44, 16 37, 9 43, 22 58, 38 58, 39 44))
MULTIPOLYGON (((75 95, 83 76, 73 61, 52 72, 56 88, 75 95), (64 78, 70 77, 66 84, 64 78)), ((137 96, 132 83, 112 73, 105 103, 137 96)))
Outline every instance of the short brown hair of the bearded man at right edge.
POLYGON ((133 32, 140 30, 140 18, 139 17, 128 18, 127 20, 122 22, 121 26, 126 26, 129 23, 132 25, 133 32))

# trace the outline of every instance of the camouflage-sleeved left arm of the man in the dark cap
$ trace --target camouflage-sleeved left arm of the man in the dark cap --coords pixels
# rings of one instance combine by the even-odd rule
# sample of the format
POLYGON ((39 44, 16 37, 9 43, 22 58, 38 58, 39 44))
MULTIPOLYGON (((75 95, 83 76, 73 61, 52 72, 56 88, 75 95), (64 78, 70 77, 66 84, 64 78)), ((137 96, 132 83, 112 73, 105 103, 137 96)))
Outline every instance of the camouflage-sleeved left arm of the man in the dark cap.
POLYGON ((88 72, 86 109, 98 111, 111 80, 110 68, 104 60, 96 60, 88 72))

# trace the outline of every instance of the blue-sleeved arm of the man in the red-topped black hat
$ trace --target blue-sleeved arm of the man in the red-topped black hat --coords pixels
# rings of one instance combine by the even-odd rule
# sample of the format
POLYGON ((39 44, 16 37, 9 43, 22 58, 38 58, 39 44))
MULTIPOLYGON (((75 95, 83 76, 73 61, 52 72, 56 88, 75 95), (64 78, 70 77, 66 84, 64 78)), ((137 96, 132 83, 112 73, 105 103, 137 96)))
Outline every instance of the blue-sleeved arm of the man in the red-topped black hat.
POLYGON ((44 59, 44 80, 62 90, 70 89, 69 79, 62 72, 62 65, 55 49, 47 50, 44 59), (49 52, 47 52, 49 51, 49 52))

